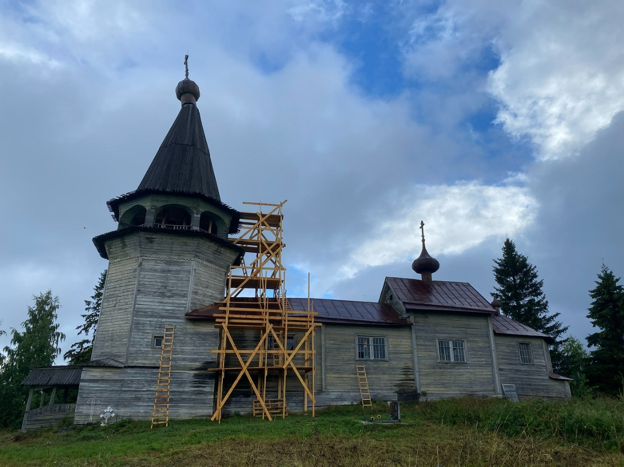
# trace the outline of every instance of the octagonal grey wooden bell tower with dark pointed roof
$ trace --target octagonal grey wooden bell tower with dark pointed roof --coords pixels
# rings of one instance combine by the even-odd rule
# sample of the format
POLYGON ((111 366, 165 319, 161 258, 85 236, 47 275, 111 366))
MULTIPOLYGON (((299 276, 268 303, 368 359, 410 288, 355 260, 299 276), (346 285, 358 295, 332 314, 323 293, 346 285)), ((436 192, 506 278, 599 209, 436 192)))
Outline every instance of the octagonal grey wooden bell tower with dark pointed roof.
MULTIPOLYGON (((200 415, 195 398, 210 415, 213 377, 206 368, 216 361, 210 350, 218 333, 185 313, 222 300, 228 268, 244 254, 228 241, 240 213, 220 199, 188 56, 185 65, 175 89, 178 116, 139 187, 107 202, 117 230, 93 239, 109 269, 78 403, 95 397, 122 418, 152 415, 165 324, 175 325, 171 398, 180 400, 172 416, 186 418, 190 406, 192 416, 200 415)), ((77 423, 82 418, 77 410, 77 423)))

